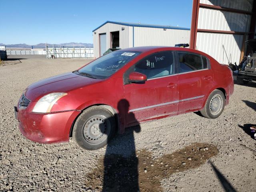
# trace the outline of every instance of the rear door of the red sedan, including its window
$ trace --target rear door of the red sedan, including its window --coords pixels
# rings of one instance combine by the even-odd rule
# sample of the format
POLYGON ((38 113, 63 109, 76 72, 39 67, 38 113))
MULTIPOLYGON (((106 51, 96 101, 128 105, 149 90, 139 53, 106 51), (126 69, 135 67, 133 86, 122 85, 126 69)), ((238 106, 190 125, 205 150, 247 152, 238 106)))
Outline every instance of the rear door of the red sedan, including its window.
POLYGON ((178 112, 202 107, 213 86, 213 72, 208 58, 192 52, 176 52, 180 83, 178 112))

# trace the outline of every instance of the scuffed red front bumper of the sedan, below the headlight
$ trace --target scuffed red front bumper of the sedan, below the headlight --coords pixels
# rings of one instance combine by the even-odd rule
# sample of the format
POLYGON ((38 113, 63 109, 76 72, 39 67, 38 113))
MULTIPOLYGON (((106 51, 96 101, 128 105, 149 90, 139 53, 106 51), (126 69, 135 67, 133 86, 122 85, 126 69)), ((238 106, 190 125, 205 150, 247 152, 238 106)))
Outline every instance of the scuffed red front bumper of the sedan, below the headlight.
POLYGON ((80 111, 70 110, 48 114, 34 113, 26 109, 14 108, 20 132, 29 140, 49 144, 68 142, 70 129, 80 111))

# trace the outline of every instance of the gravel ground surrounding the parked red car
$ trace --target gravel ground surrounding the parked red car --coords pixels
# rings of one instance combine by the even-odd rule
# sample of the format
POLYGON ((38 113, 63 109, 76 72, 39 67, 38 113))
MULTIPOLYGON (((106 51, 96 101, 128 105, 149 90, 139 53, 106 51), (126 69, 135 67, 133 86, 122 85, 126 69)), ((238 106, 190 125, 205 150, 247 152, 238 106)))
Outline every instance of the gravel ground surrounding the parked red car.
POLYGON ((0 191, 256 190, 256 153, 242 146, 256 150, 249 130, 256 124, 255 83, 235 84, 217 119, 189 113, 156 120, 128 128, 105 148, 86 151, 72 139, 49 145, 27 140, 13 106, 29 84, 90 60, 11 58, 0 66, 0 191))

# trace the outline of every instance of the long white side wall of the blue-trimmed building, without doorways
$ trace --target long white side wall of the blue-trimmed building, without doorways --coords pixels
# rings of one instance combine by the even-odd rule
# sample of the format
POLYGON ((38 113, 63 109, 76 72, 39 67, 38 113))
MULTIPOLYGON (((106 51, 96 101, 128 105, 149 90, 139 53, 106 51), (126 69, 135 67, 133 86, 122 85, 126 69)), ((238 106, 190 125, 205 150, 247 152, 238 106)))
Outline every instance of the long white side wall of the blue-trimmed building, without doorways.
POLYGON ((190 30, 134 27, 134 46, 174 46, 189 43, 190 30))

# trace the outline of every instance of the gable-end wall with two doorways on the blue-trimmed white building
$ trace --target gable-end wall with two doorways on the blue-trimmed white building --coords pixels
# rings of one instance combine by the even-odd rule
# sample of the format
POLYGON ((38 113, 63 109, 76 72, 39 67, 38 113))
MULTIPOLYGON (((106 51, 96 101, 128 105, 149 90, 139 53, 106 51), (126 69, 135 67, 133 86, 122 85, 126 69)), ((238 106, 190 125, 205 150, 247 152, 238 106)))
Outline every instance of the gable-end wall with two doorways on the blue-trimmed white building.
POLYGON ((120 48, 128 48, 132 47, 132 38, 129 38, 132 34, 129 35, 130 32, 132 32, 131 26, 124 26, 119 24, 113 24, 113 23, 106 23, 102 27, 98 28, 93 33, 93 46, 94 46, 94 57, 98 58, 100 56, 99 48, 100 48, 100 42, 99 42, 99 34, 106 33, 107 38, 107 50, 110 48, 111 45, 111 37, 110 32, 119 31, 119 39, 120 39, 120 48), (124 27, 124 30, 122 30, 122 27, 124 27))

